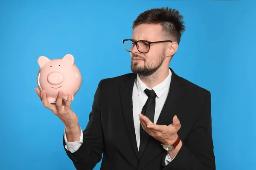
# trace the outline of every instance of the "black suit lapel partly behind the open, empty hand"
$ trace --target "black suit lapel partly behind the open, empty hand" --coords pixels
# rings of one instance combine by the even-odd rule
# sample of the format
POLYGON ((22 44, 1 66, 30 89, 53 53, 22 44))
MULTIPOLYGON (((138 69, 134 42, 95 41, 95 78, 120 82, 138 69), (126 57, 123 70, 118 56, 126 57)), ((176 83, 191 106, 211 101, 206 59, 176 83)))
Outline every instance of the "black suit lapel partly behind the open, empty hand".
MULTIPOLYGON (((169 93, 166 98, 166 102, 163 106, 163 109, 160 113, 160 116, 157 120, 157 125, 172 124, 172 119, 173 116, 175 115, 177 115, 177 117, 179 118, 179 113, 177 109, 180 99, 184 94, 184 91, 182 89, 182 84, 180 84, 179 82, 179 77, 174 73, 174 71, 171 68, 170 70, 172 71, 172 79, 169 88, 169 93)), ((143 167, 144 165, 148 164, 148 162, 154 159, 155 156, 163 154, 163 152, 165 152, 165 150, 163 150, 161 142, 157 141, 156 139, 150 136, 148 144, 145 147, 145 151, 140 160, 140 166, 143 167)))

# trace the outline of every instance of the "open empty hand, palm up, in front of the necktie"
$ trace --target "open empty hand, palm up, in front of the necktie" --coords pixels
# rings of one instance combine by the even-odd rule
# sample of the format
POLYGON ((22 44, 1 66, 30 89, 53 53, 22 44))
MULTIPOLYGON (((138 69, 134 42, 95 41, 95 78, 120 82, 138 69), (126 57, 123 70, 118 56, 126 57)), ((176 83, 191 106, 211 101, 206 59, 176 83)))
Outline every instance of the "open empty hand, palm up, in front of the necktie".
POLYGON ((162 143, 174 143, 177 139, 177 131, 180 130, 180 121, 175 115, 172 119, 173 123, 166 125, 154 125, 146 116, 139 114, 140 123, 143 129, 154 139, 162 143))

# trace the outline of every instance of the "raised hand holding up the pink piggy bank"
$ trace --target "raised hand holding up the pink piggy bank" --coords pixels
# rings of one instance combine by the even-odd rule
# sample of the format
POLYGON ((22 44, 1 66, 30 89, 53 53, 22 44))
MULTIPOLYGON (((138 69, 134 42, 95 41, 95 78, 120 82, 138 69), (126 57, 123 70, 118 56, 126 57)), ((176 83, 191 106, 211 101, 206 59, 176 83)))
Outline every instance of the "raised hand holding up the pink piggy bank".
POLYGON ((67 128, 72 129, 73 127, 78 127, 78 117, 70 108, 72 98, 71 94, 68 95, 67 102, 65 102, 63 100, 63 92, 59 91, 56 103, 48 103, 47 95, 44 91, 41 93, 38 88, 35 88, 35 91, 43 102, 44 107, 51 110, 52 113, 61 119, 66 127, 66 130, 67 128))

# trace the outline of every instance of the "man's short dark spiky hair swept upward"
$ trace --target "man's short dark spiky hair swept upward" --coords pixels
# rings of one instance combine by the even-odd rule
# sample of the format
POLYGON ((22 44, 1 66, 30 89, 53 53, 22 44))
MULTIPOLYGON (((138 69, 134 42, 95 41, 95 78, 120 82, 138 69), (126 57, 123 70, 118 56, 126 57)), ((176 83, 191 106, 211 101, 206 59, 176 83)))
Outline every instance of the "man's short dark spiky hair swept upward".
POLYGON ((176 9, 162 7, 162 8, 151 8, 143 13, 134 20, 132 28, 140 24, 160 24, 163 28, 163 36, 172 38, 172 41, 180 43, 180 37, 183 31, 185 31, 183 16, 176 9))

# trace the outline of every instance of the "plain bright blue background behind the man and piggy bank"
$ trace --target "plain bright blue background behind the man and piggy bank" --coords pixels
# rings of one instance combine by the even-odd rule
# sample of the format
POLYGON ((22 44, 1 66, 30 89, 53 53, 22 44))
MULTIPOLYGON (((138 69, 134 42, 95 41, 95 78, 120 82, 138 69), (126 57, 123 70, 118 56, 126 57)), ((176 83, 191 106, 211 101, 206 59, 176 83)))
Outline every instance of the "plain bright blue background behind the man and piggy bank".
POLYGON ((63 123, 34 90, 38 57, 74 55, 83 82, 72 109, 84 129, 99 81, 131 72, 122 39, 131 38, 132 22, 162 6, 176 8, 186 22, 170 66, 211 91, 217 170, 256 168, 255 1, 2 0, 1 170, 75 169, 62 145, 63 123))

